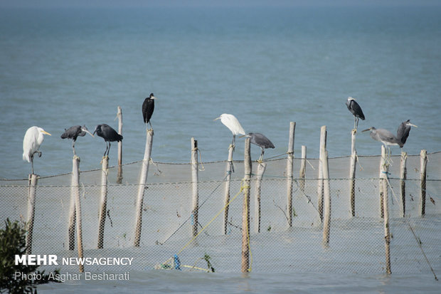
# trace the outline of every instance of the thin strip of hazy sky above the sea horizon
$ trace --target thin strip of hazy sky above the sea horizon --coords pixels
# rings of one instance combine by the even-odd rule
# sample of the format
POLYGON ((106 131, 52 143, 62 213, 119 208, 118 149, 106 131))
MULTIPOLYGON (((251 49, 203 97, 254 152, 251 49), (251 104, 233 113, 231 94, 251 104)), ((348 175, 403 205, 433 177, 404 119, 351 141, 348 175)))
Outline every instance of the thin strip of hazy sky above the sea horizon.
POLYGON ((0 0, 0 7, 441 6, 440 0, 0 0))

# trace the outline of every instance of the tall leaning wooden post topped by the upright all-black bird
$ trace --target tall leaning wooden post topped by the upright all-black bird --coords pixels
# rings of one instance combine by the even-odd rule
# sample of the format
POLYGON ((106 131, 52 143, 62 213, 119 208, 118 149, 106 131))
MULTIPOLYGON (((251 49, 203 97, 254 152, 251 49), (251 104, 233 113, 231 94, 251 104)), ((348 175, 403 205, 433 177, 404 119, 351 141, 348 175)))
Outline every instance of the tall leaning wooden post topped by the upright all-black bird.
POLYGON ((150 156, 152 155, 153 130, 147 130, 146 147, 144 150, 144 159, 142 160, 141 175, 139 176, 139 187, 136 204, 136 220, 134 233, 134 246, 139 247, 142 229, 142 203, 144 201, 144 189, 147 182, 147 174, 149 173, 150 156))

